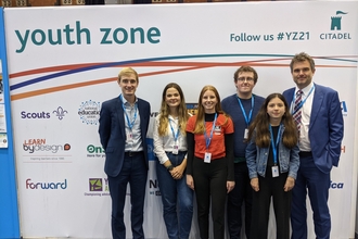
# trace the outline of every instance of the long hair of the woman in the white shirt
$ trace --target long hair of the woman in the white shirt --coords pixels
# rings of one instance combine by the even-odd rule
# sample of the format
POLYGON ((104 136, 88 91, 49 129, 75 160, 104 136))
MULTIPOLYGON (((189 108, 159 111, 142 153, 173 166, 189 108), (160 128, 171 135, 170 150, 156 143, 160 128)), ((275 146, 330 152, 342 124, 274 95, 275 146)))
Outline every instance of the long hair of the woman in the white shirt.
POLYGON ((161 105, 161 112, 159 112, 161 116, 159 116, 158 134, 162 137, 166 136, 168 134, 169 106, 166 103, 165 99, 166 99, 167 90, 169 88, 175 88, 179 92, 180 104, 178 105, 178 117, 179 117, 178 124, 179 124, 180 133, 182 135, 186 135, 186 127, 187 127, 189 114, 187 111, 184 95, 183 95, 180 86, 176 83, 169 83, 168 85, 166 85, 166 87, 163 90, 162 105, 161 105))

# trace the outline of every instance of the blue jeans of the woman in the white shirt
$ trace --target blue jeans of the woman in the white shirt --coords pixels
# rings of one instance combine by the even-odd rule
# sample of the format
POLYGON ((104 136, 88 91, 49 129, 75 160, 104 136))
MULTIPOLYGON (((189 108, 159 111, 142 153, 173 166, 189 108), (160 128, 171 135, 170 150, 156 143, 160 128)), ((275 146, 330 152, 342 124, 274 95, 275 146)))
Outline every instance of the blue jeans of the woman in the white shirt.
MULTIPOLYGON (((167 153, 172 166, 182 163, 187 152, 167 153)), ((169 239, 188 239, 193 217, 193 191, 187 186, 187 177, 174 179, 157 161, 156 176, 163 202, 163 217, 169 239), (177 211, 178 210, 178 211, 177 211)))

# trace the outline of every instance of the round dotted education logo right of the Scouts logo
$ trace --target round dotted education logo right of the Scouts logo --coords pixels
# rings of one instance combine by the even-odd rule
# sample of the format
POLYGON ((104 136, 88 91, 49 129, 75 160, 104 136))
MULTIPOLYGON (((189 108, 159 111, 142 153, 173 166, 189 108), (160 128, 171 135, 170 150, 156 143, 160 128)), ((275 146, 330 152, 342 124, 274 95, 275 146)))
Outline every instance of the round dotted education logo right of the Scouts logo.
POLYGON ((100 102, 85 101, 78 109, 78 115, 82 123, 87 125, 97 125, 100 118, 100 102))

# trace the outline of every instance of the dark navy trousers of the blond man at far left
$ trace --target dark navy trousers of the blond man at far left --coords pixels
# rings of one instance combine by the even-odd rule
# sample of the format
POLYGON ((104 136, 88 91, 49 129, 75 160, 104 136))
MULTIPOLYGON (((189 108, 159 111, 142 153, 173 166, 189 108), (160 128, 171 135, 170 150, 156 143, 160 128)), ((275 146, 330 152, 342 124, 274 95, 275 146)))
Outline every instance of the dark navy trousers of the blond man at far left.
POLYGON ((130 187, 130 222, 133 239, 143 239, 143 207, 145 198, 148 169, 143 154, 125 156, 118 176, 108 176, 112 198, 112 236, 113 239, 126 238, 124 207, 126 203, 127 184, 130 187))

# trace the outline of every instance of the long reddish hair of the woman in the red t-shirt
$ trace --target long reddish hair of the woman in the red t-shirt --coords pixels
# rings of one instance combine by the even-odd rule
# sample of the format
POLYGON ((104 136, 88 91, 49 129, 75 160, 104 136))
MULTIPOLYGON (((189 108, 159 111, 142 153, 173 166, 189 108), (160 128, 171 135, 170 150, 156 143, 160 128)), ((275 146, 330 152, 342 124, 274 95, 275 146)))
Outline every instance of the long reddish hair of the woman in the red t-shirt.
POLYGON ((204 93, 207 90, 212 90, 215 93, 215 97, 218 101, 215 105, 215 112, 218 113, 218 114, 223 114, 226 116, 226 121, 225 121, 223 125, 227 124, 228 118, 229 118, 229 115, 227 115, 221 109, 220 96, 219 96, 219 92, 217 91, 217 89, 214 86, 209 86, 209 85, 204 86, 201 93, 200 93, 200 97, 199 97, 199 103, 197 103, 199 111, 197 111, 197 115, 196 115, 194 134, 204 134, 204 131, 205 131, 205 125, 204 125, 205 110, 204 110, 204 106, 202 104, 202 100, 203 100, 204 93))

